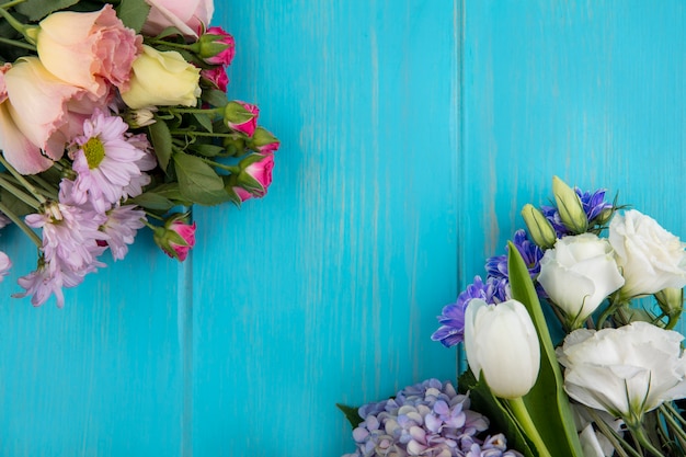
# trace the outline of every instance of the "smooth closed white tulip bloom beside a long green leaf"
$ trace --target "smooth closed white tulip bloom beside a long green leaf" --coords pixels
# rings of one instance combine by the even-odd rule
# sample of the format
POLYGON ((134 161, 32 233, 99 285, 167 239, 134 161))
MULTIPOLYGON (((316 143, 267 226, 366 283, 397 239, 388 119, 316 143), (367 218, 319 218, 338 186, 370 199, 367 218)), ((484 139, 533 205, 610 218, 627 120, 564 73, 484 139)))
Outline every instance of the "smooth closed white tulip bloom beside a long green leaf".
POLYGON ((465 312, 465 352, 472 373, 494 396, 525 396, 538 378, 540 346, 528 311, 519 301, 488 305, 475 298, 465 312))

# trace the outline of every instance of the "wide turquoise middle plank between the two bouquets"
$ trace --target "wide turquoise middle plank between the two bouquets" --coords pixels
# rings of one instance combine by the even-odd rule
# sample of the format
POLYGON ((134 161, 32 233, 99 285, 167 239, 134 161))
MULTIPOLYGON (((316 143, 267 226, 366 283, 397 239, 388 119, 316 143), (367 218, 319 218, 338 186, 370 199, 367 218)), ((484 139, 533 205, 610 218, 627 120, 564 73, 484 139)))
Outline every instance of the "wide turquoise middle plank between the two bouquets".
POLYGON ((283 141, 267 196, 195 213, 194 454, 341 455, 335 402, 434 376, 456 295, 457 2, 231 2, 230 94, 283 141))

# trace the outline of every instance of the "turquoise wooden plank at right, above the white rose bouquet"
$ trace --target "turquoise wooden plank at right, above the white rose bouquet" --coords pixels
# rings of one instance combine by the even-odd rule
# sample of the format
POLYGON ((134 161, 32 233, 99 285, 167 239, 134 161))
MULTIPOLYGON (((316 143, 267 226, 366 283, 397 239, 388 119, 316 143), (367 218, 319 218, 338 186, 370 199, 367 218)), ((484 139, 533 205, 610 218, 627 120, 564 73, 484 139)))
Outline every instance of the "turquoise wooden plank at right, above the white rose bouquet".
MULTIPOLYGON (((679 1, 468 1, 461 281, 504 252, 551 178, 686 239, 686 9, 679 1)), ((682 323, 681 330, 686 327, 682 323)))

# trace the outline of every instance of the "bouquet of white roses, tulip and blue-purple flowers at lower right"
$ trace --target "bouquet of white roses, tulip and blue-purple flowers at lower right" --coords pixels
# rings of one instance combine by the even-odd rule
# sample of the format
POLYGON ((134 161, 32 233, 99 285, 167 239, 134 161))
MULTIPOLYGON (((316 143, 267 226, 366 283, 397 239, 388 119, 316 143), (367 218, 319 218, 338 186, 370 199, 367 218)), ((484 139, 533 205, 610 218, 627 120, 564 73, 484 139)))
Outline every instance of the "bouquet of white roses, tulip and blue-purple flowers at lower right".
POLYGON ((430 380, 339 405, 354 455, 686 456, 686 355, 673 330, 686 244, 604 190, 554 178, 553 194, 524 206, 527 229, 438 317, 432 339, 467 355, 459 393, 430 380))

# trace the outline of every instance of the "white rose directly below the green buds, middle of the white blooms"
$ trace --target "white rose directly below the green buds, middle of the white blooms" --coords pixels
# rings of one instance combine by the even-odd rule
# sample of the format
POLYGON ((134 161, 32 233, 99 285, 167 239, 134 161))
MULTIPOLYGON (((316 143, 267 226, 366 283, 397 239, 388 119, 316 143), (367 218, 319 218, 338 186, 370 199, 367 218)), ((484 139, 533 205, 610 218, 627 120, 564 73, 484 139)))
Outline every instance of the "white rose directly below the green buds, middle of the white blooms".
POLYGON ((582 233, 561 238, 546 251, 538 282, 574 329, 625 279, 607 240, 582 233))

